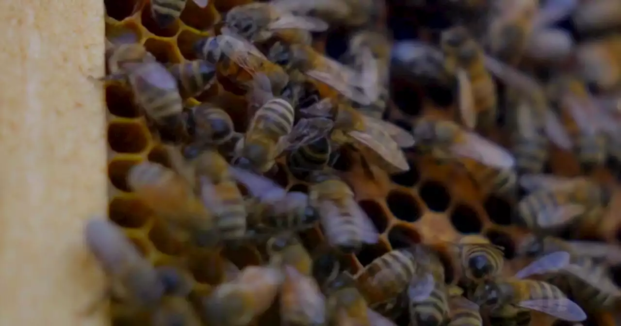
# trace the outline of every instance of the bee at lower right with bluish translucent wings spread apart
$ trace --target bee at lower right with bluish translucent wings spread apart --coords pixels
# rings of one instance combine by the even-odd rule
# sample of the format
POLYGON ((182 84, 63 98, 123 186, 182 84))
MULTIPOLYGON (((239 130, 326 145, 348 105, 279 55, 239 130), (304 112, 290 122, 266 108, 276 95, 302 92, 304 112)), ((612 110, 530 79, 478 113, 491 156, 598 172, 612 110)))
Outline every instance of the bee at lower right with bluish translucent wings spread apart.
POLYGON ((557 319, 581 322, 586 319, 586 314, 560 289, 543 281, 524 279, 565 268, 569 265, 569 258, 569 253, 557 251, 526 266, 514 278, 499 278, 480 284, 474 292, 473 302, 488 308, 491 317, 512 319, 519 312, 537 310, 557 319))

